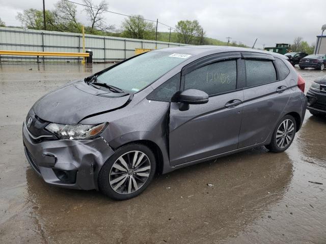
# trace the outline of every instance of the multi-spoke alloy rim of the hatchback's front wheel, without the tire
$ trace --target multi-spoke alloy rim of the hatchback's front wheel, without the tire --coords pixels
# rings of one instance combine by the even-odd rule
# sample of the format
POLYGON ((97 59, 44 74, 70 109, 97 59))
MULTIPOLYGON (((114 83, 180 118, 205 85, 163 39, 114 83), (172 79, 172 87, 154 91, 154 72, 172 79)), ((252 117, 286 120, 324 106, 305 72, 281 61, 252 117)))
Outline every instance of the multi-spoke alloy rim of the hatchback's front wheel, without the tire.
POLYGON ((141 151, 129 151, 120 156, 112 165, 108 181, 119 194, 138 191, 150 175, 151 163, 141 151))

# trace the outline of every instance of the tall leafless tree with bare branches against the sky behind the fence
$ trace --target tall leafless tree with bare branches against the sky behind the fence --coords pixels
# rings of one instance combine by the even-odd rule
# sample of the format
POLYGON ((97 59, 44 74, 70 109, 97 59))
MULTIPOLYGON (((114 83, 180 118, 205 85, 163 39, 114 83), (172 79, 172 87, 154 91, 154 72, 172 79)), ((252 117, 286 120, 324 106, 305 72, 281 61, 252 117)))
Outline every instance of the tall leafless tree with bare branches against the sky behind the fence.
POLYGON ((93 4, 93 0, 83 0, 88 20, 91 22, 90 33, 96 31, 113 31, 114 25, 107 25, 103 13, 107 11, 108 4, 102 0, 98 5, 93 4))

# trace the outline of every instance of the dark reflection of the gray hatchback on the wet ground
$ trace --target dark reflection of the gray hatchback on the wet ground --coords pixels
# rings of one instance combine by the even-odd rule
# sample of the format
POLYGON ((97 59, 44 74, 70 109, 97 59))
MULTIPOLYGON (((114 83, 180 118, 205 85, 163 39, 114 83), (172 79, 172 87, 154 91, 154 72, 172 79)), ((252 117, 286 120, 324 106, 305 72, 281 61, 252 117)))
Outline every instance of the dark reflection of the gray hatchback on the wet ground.
POLYGON ((222 240, 259 220, 282 199, 292 172, 286 153, 258 147, 158 175, 153 187, 128 201, 49 186, 32 168, 26 170, 26 194, 39 206, 33 208, 35 216, 55 242, 71 236, 76 242, 222 240), (176 235, 176 226, 186 228, 178 228, 176 235))

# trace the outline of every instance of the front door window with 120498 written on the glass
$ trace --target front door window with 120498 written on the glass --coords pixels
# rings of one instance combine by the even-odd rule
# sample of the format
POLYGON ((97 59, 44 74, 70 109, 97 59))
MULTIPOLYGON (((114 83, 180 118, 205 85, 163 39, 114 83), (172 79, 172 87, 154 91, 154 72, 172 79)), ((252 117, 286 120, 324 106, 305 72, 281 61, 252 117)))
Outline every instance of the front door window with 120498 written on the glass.
POLYGON ((203 66, 184 76, 184 89, 199 89, 208 95, 236 89, 236 60, 203 66))

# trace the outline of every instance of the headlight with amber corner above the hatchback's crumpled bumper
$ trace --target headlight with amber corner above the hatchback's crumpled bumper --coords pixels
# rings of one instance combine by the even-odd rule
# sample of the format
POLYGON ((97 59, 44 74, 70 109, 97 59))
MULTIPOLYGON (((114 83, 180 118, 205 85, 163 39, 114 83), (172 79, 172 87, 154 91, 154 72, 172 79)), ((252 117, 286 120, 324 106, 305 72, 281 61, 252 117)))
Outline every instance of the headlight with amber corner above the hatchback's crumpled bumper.
POLYGON ((100 125, 61 125, 56 123, 48 124, 45 129, 55 134, 60 139, 91 139, 98 136, 107 123, 100 125))

